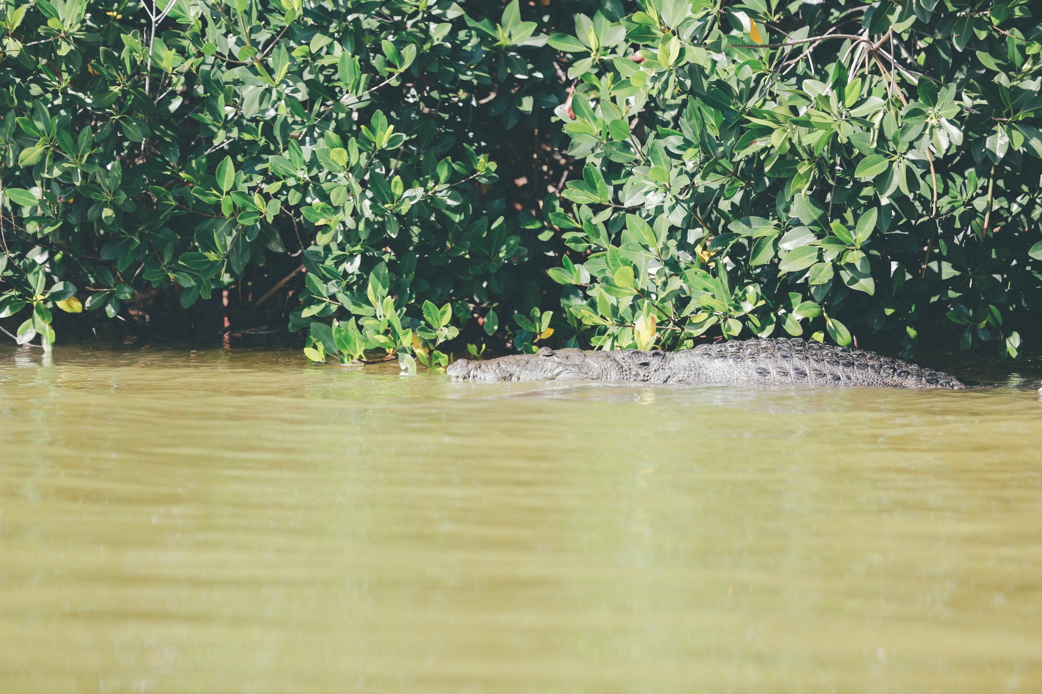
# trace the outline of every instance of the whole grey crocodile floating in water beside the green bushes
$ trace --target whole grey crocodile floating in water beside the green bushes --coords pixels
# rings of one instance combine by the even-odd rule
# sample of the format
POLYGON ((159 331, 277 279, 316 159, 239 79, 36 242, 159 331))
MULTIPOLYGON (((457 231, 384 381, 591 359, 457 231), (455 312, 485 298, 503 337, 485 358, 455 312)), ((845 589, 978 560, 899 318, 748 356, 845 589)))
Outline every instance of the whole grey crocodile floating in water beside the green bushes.
POLYGON ((864 350, 802 339, 731 340, 693 350, 584 352, 542 348, 489 361, 460 359, 449 376, 468 381, 636 381, 679 384, 965 388, 958 379, 864 350))

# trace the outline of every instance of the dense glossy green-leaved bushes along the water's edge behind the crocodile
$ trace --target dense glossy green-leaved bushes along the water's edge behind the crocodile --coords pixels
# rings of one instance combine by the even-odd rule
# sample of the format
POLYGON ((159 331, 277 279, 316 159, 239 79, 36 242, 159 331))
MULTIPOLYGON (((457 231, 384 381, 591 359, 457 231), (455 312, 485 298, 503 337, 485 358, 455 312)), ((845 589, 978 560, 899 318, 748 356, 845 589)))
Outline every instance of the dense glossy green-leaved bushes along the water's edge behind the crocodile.
POLYGON ((1031 8, 8 2, 0 339, 410 370, 754 336, 1019 358, 1031 8))

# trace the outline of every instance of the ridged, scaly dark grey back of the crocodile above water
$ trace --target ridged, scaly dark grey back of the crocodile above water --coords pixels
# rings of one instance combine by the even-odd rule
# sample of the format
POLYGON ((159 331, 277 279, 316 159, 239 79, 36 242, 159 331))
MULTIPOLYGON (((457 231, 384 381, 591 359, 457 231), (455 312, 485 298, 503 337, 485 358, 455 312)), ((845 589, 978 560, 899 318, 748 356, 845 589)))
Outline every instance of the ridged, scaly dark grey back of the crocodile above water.
POLYGON ((698 362, 706 380, 715 383, 965 388, 943 371, 866 350, 798 338, 699 344, 689 351, 688 358, 698 362))

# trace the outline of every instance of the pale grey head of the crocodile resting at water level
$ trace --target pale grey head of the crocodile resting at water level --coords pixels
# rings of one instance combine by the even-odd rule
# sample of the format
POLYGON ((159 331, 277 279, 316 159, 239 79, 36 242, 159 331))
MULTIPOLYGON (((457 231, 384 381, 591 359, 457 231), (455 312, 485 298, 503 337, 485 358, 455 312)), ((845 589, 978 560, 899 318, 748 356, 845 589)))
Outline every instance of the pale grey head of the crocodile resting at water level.
MULTIPOLYGON (((596 353, 594 353, 596 354, 596 353)), ((600 359, 591 358, 581 350, 541 348, 536 354, 515 354, 489 361, 460 359, 447 372, 464 381, 551 381, 554 379, 588 380, 599 378, 600 359)))

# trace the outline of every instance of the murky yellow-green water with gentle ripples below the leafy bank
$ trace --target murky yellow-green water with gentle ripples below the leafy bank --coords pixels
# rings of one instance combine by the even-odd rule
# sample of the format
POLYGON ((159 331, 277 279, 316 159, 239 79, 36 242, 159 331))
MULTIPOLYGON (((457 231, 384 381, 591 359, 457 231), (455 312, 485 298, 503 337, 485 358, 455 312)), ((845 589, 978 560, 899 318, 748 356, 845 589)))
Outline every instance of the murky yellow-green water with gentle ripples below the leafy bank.
POLYGON ((0 691, 1039 692, 1034 389, 0 348, 0 691))

